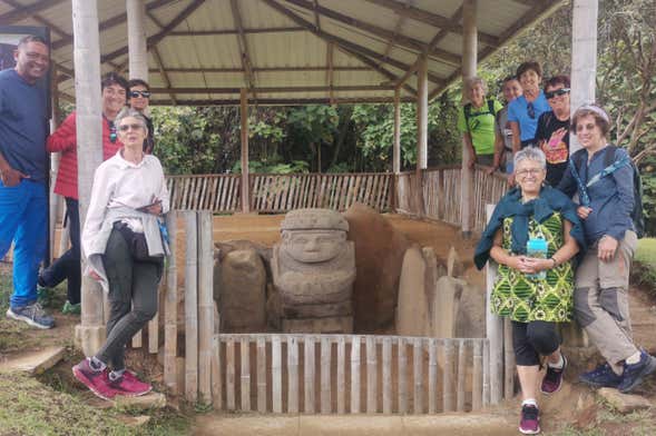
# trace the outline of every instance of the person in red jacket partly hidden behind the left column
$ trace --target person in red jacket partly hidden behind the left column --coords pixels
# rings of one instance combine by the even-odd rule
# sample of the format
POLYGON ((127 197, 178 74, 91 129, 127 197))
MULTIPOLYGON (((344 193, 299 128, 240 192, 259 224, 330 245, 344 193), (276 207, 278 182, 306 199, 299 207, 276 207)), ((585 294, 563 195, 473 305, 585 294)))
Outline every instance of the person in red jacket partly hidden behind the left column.
MULTIPOLYGON (((128 82, 121 76, 109 72, 100 82, 102 92, 102 160, 116 155, 121 147, 114 120, 125 107, 128 82)), ((48 151, 61 151, 55 194, 66 199, 66 215, 70 236, 70 249, 39 275, 39 286, 53 288, 68 280, 67 301, 62 313, 80 313, 80 220, 78 211, 78 155, 76 112, 72 111, 48 138, 48 151)))

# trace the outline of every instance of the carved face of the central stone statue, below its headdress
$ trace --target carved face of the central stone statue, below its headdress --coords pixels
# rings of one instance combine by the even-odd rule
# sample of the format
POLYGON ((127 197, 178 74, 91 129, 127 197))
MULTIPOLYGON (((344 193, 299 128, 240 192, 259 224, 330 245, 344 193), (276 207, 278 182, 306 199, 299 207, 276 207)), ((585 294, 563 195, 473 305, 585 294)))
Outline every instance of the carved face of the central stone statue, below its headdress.
POLYGON ((346 248, 342 230, 283 230, 281 249, 301 264, 319 264, 334 259, 346 248))

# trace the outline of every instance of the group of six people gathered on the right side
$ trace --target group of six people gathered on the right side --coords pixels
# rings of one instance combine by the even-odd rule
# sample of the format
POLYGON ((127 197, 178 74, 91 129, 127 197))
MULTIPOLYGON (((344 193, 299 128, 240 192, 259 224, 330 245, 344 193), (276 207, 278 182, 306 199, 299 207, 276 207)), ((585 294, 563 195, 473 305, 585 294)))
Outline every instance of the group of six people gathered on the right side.
POLYGON ((580 382, 628 393, 656 370, 656 358, 633 339, 628 309, 629 269, 642 232, 637 169, 608 142, 610 118, 601 107, 581 106, 570 118, 567 76, 550 78, 541 90, 540 82, 538 63, 519 66, 517 78, 503 81, 506 115, 506 108, 495 112, 496 102, 484 103, 484 83, 474 78, 471 107, 461 117, 479 121, 466 122, 463 132, 470 167, 488 165, 491 172, 505 164, 515 185, 498 202, 474 261, 479 268, 490 258, 499 265, 490 308, 511 321, 523 434, 540 432, 538 385, 551 395, 562 384, 568 361, 560 350, 561 323, 576 319, 606 360, 580 382), (474 132, 483 125, 484 141, 474 132), (570 131, 582 147, 571 156, 570 131))

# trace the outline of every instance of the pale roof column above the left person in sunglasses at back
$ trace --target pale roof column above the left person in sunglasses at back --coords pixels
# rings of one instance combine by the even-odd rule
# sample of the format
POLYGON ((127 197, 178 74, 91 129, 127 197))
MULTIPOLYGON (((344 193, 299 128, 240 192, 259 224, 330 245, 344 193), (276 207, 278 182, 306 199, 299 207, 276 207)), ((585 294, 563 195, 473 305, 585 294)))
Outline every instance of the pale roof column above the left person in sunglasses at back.
POLYGON ((126 0, 128 20, 128 68, 130 79, 148 81, 146 48, 146 4, 144 0, 126 0))

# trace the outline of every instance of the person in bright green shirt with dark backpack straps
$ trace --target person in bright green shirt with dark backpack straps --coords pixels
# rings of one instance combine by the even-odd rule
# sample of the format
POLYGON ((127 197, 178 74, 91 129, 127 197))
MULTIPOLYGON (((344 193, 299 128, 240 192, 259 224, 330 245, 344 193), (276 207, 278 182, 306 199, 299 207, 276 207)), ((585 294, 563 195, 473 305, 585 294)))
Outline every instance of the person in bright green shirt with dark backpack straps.
POLYGON ((491 167, 495 162, 495 121, 503 106, 495 99, 486 99, 488 87, 480 77, 472 77, 466 83, 469 102, 458 115, 458 129, 462 133, 463 147, 469 151, 469 168, 476 164, 491 167))

